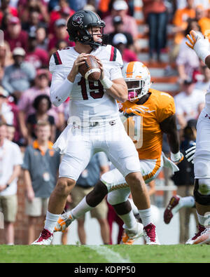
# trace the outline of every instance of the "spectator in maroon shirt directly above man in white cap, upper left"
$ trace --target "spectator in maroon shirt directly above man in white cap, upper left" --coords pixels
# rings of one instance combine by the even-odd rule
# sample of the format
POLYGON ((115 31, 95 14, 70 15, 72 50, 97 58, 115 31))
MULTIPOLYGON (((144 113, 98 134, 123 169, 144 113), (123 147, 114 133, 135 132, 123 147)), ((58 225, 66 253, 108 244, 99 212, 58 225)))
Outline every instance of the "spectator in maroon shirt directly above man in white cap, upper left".
POLYGON ((24 48, 27 51, 28 34, 22 30, 19 18, 9 19, 4 39, 9 43, 11 51, 16 47, 24 48))

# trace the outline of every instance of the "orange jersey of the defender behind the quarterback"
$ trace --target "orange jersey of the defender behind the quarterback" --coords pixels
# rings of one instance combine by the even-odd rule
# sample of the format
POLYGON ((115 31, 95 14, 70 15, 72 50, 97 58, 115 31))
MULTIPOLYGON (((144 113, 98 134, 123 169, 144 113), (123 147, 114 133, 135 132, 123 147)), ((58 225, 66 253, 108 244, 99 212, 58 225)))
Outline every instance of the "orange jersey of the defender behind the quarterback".
POLYGON ((140 116, 132 116, 125 121, 128 135, 134 141, 140 159, 158 159, 162 153, 162 130, 160 123, 175 114, 174 98, 169 93, 149 89, 151 96, 144 104, 126 101, 120 103, 120 111, 141 107, 140 116))

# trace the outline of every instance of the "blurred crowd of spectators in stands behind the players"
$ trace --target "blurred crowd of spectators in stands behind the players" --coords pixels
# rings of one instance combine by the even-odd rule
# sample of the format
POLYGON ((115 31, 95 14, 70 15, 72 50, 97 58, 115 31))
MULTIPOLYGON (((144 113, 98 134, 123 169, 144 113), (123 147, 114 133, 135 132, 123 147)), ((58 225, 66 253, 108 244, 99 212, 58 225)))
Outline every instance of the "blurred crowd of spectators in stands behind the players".
MULTIPOLYGON (((120 50, 125 63, 133 60, 141 61, 141 53, 145 52, 141 39, 148 39, 146 48, 148 59, 145 62, 148 68, 162 65, 165 77, 178 76, 179 89, 172 95, 176 103, 181 151, 185 151, 196 139, 196 121, 204 107, 205 93, 210 84, 210 70, 197 58, 195 52, 186 46, 185 42, 186 34, 192 29, 208 34, 209 0, 1 0, 0 29, 3 31, 3 39, 1 33, 0 167, 3 168, 1 166, 5 162, 3 157, 6 154, 5 151, 8 151, 7 148, 4 149, 4 140, 18 144, 22 153, 27 153, 23 157, 23 163, 21 158, 10 163, 10 166, 15 165, 13 168, 20 165, 25 173, 29 173, 24 174, 27 204, 34 203, 34 198, 48 199, 56 183, 59 163, 53 160, 57 169, 51 170, 48 167, 51 163, 50 158, 56 159, 56 155, 52 154, 52 143, 66 127, 69 99, 59 107, 51 105, 49 97, 51 74, 48 71, 48 63, 50 56, 56 50, 73 46, 66 32, 66 22, 75 11, 82 9, 97 12, 105 21, 104 33, 110 34, 109 43, 120 50), (142 18, 139 18, 140 14, 142 18), (164 55, 168 56, 167 62, 163 59, 164 55), (46 142, 48 142, 47 147, 46 142), (42 143, 45 151, 42 151, 42 143), (33 149, 36 151, 32 151, 33 149), (32 163, 33 158, 36 161, 32 163), (38 163, 43 163, 43 170, 33 175, 34 166, 36 164, 38 166, 38 163), (40 191, 38 184, 34 184, 34 179, 38 179, 38 175, 42 176, 41 180, 47 187, 42 188, 43 191, 40 191), (49 182, 53 184, 49 185, 49 182)), ((169 90, 167 92, 171 93, 169 90)), ((166 154, 169 154, 166 140, 163 149, 166 154)), ((10 158, 13 160, 13 155, 10 158)), ((98 175, 95 176, 94 182, 99 179, 106 163, 106 158, 99 159, 98 175)), ((94 164, 97 162, 95 161, 94 164)), ((106 170, 109 169, 106 168, 106 170)), ((185 176, 190 177, 181 180, 181 175, 178 173, 174 177, 174 183, 178 187, 183 185, 192 187, 193 168, 186 164, 183 170, 186 173, 185 176)), ((96 172, 95 169, 93 171, 96 172)), ((11 173, 13 173, 12 169, 11 173)), ((5 197, 17 194, 15 186, 17 187, 18 175, 14 176, 10 182, 14 187, 8 191, 10 184, 5 187, 7 184, 3 183, 3 173, 0 172, 0 207, 4 211, 10 205, 5 197)), ((86 171, 82 177, 88 179, 90 175, 88 177, 86 171)), ((94 186, 94 183, 84 181, 78 185, 86 190, 94 186)), ((184 191, 183 196, 186 194, 187 192, 184 191)), ((71 197, 69 203, 69 205, 73 203, 71 197)), ((34 239, 35 219, 41 215, 41 211, 37 212, 37 210, 46 208, 47 204, 41 201, 36 205, 33 204, 33 207, 31 205, 27 206, 29 243, 34 239)), ((5 215, 8 234, 6 242, 10 244, 14 243, 13 223, 17 209, 13 207, 13 215, 5 215)), ((99 219, 104 243, 111 243, 108 233, 103 233, 103 230, 109 232, 109 227, 116 220, 122 231, 123 222, 114 218, 111 207, 102 214, 99 212, 96 217, 99 219)), ((82 239, 85 238, 83 219, 79 223, 81 243, 85 243, 85 239, 82 239)))

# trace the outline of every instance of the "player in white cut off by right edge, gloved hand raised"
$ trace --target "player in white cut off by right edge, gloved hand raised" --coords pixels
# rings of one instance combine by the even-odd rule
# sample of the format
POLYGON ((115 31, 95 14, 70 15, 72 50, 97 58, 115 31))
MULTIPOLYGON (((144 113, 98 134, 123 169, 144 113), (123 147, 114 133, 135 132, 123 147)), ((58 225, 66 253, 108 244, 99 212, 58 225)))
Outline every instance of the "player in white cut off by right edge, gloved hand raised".
MULTIPOLYGON (((209 39, 198 32, 190 31, 186 44, 210 69, 209 39)), ((195 206, 199 228, 197 234, 186 244, 210 243, 210 88, 205 96, 205 107, 197 121, 197 138, 194 161, 195 206)))

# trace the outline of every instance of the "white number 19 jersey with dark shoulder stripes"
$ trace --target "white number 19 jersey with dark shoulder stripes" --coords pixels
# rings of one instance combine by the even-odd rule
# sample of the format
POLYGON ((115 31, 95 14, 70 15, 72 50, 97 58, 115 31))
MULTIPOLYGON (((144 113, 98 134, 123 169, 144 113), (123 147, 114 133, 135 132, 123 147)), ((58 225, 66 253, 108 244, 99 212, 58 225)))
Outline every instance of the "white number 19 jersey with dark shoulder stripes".
MULTIPOLYGON (((90 54, 102 60, 104 74, 111 81, 123 78, 121 72, 123 60, 117 48, 111 45, 99 46, 90 54)), ((79 53, 73 47, 57 50, 52 55, 50 72, 53 89, 66 79, 78 55, 79 53)), ((77 74, 69 97, 69 116, 79 117, 82 122, 108 121, 119 117, 117 101, 106 93, 100 81, 90 82, 85 80, 80 73, 77 74)))

